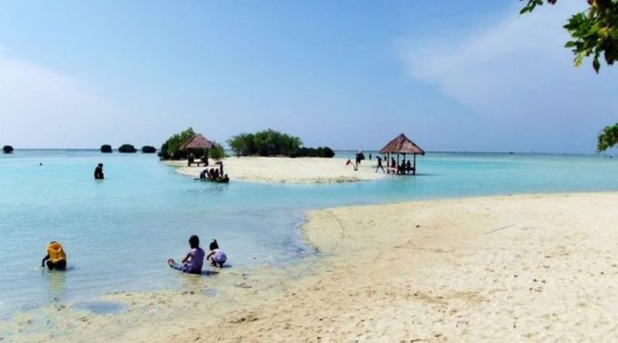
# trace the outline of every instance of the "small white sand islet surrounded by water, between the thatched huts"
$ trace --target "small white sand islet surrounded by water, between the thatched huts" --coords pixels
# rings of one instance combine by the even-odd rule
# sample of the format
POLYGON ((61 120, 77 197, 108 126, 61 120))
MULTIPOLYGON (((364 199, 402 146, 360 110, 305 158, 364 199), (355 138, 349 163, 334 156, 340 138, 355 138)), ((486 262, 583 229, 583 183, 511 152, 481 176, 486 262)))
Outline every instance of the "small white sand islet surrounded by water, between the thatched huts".
MULTIPOLYGON (((232 180, 268 183, 345 183, 375 180, 376 160, 363 160, 358 170, 345 165, 345 159, 287 157, 230 157, 223 160, 224 172, 232 180)), ((178 167, 178 172, 198 177, 203 167, 187 167, 184 161, 166 161, 178 167)), ((217 168, 211 160, 209 168, 217 168)))

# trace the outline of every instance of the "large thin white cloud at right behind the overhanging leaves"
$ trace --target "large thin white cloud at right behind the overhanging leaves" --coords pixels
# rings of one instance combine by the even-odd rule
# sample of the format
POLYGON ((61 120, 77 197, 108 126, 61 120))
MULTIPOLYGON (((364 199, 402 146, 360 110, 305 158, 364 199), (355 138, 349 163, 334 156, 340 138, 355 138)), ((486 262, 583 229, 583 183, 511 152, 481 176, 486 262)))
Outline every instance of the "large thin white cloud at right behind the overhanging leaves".
POLYGON ((562 26, 582 4, 559 2, 523 16, 515 6, 482 29, 404 39, 400 58, 412 78, 479 114, 482 122, 473 125, 494 131, 479 134, 503 149, 590 151, 598 129, 615 120, 618 74, 615 66, 603 66, 597 75, 590 60, 575 69, 572 52, 563 47, 569 36, 562 26), (501 124, 524 130, 519 143, 501 124))

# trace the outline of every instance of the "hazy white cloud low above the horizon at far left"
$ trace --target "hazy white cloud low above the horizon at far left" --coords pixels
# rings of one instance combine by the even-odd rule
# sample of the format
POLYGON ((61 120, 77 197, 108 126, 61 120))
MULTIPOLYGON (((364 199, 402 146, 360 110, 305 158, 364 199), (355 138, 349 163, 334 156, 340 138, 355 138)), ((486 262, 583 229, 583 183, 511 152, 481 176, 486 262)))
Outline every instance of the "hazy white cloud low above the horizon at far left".
POLYGON ((0 55, 0 75, 2 144, 90 147, 118 117, 107 99, 69 74, 0 55))

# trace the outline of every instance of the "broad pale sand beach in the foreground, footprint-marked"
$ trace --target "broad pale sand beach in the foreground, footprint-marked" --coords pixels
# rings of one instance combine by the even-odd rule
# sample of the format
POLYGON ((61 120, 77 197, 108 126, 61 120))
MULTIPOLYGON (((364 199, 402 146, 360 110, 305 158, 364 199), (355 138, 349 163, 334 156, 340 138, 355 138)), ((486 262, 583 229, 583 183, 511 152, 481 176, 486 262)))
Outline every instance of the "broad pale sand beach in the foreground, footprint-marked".
POLYGON ((315 211, 303 233, 317 256, 287 269, 222 269, 183 292, 106 296, 122 314, 56 306, 0 328, 39 341, 610 341, 616 204, 613 192, 315 211))

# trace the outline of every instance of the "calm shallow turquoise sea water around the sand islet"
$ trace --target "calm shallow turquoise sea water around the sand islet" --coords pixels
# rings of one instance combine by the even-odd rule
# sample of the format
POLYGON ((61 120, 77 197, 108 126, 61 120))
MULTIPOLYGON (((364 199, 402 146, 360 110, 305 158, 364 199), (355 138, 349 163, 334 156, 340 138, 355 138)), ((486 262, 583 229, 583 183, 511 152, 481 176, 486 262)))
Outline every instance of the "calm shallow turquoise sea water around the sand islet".
POLYGON ((429 153, 417 162, 416 177, 373 182, 243 183, 230 175, 229 184, 211 184, 178 175, 152 154, 18 150, 0 155, 0 316, 105 292, 174 289, 181 281, 165 261, 186 253, 191 234, 205 247, 217 238, 232 268, 284 266, 313 253, 299 233, 308 209, 618 191, 618 159, 598 156, 429 153), (105 164, 104 181, 92 179, 99 162, 105 164), (40 267, 52 240, 66 248, 65 273, 40 267))

